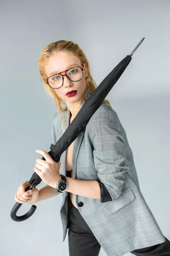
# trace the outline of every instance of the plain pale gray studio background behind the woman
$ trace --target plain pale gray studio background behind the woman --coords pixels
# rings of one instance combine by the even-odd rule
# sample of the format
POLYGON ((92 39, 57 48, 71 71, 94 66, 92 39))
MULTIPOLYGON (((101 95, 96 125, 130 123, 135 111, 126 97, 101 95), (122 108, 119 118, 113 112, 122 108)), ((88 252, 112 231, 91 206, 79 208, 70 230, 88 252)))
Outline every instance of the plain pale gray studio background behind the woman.
MULTIPOLYGON (((62 195, 38 202, 26 221, 10 217, 17 188, 42 158, 36 149, 50 151, 57 110, 37 61, 42 48, 63 39, 79 44, 99 85, 145 37, 106 99, 127 133, 142 194, 170 239, 169 13, 168 0, 0 2, 0 255, 69 255, 68 233, 62 242, 62 195)), ((23 204, 17 215, 29 209, 23 204)), ((105 255, 101 248, 99 256, 105 255)))

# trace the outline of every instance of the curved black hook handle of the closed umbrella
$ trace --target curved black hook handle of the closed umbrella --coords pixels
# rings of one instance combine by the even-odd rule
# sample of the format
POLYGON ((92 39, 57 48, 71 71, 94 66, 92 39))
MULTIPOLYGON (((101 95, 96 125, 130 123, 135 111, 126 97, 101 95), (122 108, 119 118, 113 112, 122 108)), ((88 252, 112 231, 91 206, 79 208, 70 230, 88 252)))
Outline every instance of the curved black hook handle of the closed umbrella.
MULTIPOLYGON (((30 183, 27 183, 27 185, 28 185, 28 187, 26 188, 26 191, 34 188, 34 186, 30 186, 31 185, 30 183)), ((17 216, 17 211, 18 211, 18 209, 20 209, 21 205, 22 204, 17 202, 14 205, 14 207, 11 209, 11 219, 13 221, 25 221, 26 219, 31 217, 31 215, 33 215, 33 213, 35 212, 35 210, 37 208, 36 205, 32 205, 31 209, 26 214, 24 214, 22 216, 17 216)))

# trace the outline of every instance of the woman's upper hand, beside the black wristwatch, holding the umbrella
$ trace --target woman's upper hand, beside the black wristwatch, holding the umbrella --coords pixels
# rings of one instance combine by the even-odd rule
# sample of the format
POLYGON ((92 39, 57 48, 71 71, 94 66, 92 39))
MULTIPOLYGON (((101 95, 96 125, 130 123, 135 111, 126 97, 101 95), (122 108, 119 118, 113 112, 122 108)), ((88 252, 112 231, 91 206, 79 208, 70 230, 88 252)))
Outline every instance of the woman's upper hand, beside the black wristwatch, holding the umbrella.
POLYGON ((45 160, 37 158, 34 172, 40 176, 44 183, 55 188, 61 178, 59 173, 61 162, 55 162, 45 150, 37 149, 36 152, 42 154, 45 160))

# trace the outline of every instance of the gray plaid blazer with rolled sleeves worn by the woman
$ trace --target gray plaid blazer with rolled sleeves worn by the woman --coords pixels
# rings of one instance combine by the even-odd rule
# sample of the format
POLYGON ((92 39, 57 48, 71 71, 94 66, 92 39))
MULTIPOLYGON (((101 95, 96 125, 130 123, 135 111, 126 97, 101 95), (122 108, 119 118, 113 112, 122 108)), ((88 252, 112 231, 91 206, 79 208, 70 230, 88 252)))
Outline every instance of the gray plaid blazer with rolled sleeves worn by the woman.
MULTIPOLYGON (((91 93, 88 92, 87 96, 90 97, 91 93)), ((83 102, 80 109, 82 105, 83 102)), ((63 122, 65 130, 69 119, 67 108, 65 126, 63 122)), ((63 133, 62 114, 56 112, 51 126, 53 144, 63 133)), ((60 174, 66 176, 66 150, 60 162, 60 174)), ((100 180, 111 195, 112 201, 105 203, 101 203, 100 199, 75 196, 80 214, 107 256, 122 256, 165 241, 140 191, 126 132, 117 113, 104 102, 74 140, 73 175, 78 180, 100 180), (83 202, 82 207, 78 206, 79 202, 83 202)), ((68 230, 67 196, 68 192, 62 193, 62 241, 68 230)))

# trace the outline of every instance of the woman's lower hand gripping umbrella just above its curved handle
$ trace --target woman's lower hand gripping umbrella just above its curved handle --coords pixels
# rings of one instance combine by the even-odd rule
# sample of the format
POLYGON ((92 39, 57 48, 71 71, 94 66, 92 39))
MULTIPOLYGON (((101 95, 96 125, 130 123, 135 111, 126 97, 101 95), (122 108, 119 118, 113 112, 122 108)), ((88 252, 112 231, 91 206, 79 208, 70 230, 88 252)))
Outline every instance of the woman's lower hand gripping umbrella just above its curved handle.
POLYGON ((28 195, 23 195, 26 192, 26 188, 28 187, 26 184, 28 183, 28 180, 25 182, 21 183, 15 196, 14 199, 22 204, 23 202, 26 204, 35 204, 39 201, 39 190, 34 188, 34 189, 29 189, 28 195), (30 201, 28 201, 30 200, 30 201))

